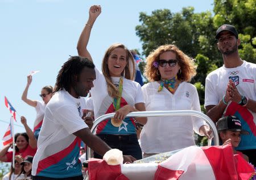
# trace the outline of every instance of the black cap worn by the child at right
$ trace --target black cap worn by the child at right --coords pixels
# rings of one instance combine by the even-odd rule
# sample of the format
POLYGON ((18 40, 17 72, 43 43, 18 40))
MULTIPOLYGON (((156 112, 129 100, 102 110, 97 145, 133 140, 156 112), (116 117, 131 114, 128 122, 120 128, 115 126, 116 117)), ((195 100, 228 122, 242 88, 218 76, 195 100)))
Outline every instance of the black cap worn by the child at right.
POLYGON ((242 129, 241 121, 236 116, 225 116, 216 124, 218 132, 222 130, 240 131, 242 135, 249 135, 248 131, 242 129))

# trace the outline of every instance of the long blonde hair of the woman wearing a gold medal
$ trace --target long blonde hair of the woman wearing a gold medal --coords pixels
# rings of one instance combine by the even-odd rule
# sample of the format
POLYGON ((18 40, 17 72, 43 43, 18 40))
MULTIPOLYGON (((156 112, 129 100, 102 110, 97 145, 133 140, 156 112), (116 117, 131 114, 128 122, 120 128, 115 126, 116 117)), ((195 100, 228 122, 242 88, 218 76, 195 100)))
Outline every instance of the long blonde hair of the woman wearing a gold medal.
POLYGON ((119 91, 117 87, 115 87, 114 83, 112 82, 110 73, 109 73, 109 68, 108 68, 108 59, 110 56, 110 53, 115 49, 115 48, 122 48, 125 49, 126 51, 126 66, 123 72, 121 73, 121 76, 125 77, 126 79, 134 79, 134 74, 135 74, 135 64, 133 60, 133 55, 131 55, 130 51, 125 47, 125 45, 120 44, 120 43, 115 43, 111 45, 105 52, 105 55, 102 60, 102 73, 106 79, 107 83, 107 89, 108 89, 108 94, 110 97, 119 97, 119 91))

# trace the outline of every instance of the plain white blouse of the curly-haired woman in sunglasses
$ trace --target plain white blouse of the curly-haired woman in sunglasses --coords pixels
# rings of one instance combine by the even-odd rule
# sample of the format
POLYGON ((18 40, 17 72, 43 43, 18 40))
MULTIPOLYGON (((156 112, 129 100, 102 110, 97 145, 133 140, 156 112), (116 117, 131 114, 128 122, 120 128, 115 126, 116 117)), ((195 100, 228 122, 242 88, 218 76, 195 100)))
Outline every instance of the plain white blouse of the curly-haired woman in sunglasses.
MULTIPOLYGON (((196 87, 181 82, 174 94, 165 87, 158 92, 158 82, 142 86, 146 111, 195 110, 201 112, 196 87)), ((144 153, 163 153, 195 145, 193 129, 199 133, 204 120, 195 116, 148 117, 141 132, 144 153)))

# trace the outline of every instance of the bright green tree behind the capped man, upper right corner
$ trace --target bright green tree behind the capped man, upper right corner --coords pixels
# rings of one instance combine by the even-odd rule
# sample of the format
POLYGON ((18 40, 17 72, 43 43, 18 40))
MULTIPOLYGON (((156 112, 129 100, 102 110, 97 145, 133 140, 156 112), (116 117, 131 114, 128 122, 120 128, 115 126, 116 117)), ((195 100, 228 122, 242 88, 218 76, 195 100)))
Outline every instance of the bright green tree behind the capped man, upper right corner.
POLYGON ((256 1, 214 0, 214 27, 228 23, 236 26, 241 39, 239 49, 243 60, 256 63, 256 1))

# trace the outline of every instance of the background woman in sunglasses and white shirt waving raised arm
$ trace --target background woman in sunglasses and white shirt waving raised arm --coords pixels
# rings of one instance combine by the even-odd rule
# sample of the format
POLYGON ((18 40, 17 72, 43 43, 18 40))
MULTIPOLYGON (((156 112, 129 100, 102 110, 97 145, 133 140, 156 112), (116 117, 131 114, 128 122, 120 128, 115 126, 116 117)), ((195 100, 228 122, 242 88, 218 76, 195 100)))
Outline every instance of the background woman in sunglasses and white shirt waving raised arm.
POLYGON ((41 90, 40 97, 43 99, 43 101, 38 100, 32 100, 27 98, 27 92, 28 88, 30 87, 32 82, 32 76, 27 76, 27 86, 22 94, 22 101, 26 102, 28 105, 35 107, 36 110, 36 119, 34 122, 34 134, 36 139, 38 139, 38 135, 40 132, 40 129, 43 124, 43 118, 44 118, 44 111, 46 110, 46 104, 50 101, 53 95, 53 88, 52 86, 44 86, 41 90))

